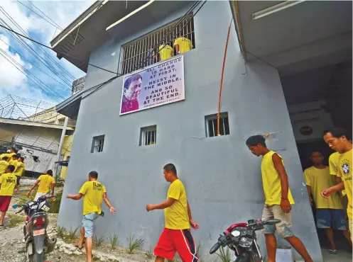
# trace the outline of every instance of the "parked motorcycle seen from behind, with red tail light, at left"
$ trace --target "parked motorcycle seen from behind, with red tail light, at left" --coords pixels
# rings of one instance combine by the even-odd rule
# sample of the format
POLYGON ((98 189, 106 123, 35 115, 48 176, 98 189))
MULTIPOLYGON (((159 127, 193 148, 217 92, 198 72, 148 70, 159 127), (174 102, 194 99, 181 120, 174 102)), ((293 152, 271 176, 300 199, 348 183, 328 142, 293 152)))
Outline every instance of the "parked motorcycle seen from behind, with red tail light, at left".
MULTIPOLYGON (((49 239, 47 227, 49 224, 48 200, 50 197, 40 197, 36 201, 30 201, 22 205, 21 210, 26 214, 26 224, 23 227, 23 235, 25 240, 25 249, 20 253, 26 253, 26 260, 29 262, 43 262, 44 254, 48 254, 55 249, 56 238, 49 239)), ((17 208, 19 205, 13 205, 17 208)))

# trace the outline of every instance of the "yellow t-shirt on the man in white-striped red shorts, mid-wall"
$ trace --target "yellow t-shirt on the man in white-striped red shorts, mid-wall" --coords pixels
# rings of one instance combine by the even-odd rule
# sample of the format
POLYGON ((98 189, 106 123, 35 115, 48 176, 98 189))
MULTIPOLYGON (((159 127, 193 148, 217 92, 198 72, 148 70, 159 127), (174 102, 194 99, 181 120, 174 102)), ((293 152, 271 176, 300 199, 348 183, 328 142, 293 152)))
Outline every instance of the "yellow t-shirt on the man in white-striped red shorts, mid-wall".
POLYGON ((183 183, 178 179, 171 183, 168 189, 168 198, 175 199, 173 205, 165 208, 165 228, 190 229, 188 216, 188 200, 183 183))

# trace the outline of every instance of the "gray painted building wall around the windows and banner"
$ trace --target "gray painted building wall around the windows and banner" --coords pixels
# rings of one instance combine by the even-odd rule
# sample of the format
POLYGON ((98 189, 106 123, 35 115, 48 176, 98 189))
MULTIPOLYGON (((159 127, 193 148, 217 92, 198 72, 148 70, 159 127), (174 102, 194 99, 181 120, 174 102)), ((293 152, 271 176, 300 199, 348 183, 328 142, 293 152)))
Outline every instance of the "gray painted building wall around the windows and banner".
MULTIPOLYGON (((90 62, 115 70, 120 45, 183 15, 180 10, 131 38, 111 40, 92 53, 90 62)), ((99 218, 98 236, 119 234, 119 244, 134 233, 145 239, 143 249, 154 247, 163 229, 163 211, 146 212, 148 203, 165 200, 168 183, 163 165, 176 164, 185 184, 192 216, 200 224, 193 231, 202 242, 205 261, 210 247, 234 222, 261 217, 264 192, 260 163, 245 146, 250 135, 279 132, 270 143, 285 159, 290 188, 295 198, 293 227, 315 261, 322 261, 308 195, 290 125, 281 81, 276 69, 261 61, 244 67, 232 25, 224 71, 222 112, 229 113, 231 135, 205 137, 205 115, 217 113, 219 79, 227 29, 232 19, 227 1, 209 1, 195 16, 196 48, 185 53, 185 101, 139 113, 119 116, 122 77, 115 79, 81 103, 64 194, 76 193, 96 170, 105 184, 116 215, 99 218), (244 74, 246 72, 246 74, 244 74), (157 144, 139 147, 140 128, 157 125, 157 144), (102 153, 91 154, 92 137, 105 135, 102 153)), ((85 89, 112 75, 89 67, 85 89)), ((103 207, 108 213, 107 207, 103 207)), ((82 201, 63 198, 59 224, 77 227, 82 220, 82 201)), ((264 237, 260 235, 264 251, 264 237)), ((214 257, 213 257, 214 258, 214 257)))

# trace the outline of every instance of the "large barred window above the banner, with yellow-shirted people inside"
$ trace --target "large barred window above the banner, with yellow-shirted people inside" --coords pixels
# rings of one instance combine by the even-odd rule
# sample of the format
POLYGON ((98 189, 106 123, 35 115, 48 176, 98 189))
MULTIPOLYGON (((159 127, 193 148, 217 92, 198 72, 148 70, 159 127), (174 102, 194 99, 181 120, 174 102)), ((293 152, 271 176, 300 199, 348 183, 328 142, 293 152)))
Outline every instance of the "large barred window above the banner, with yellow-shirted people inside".
POLYGON ((180 54, 194 49, 195 35, 192 14, 177 25, 178 20, 123 45, 119 73, 128 74, 178 55, 174 48, 177 43, 180 44, 180 54), (173 28, 175 25, 177 26, 173 28), (161 45, 159 45, 160 43, 161 45))

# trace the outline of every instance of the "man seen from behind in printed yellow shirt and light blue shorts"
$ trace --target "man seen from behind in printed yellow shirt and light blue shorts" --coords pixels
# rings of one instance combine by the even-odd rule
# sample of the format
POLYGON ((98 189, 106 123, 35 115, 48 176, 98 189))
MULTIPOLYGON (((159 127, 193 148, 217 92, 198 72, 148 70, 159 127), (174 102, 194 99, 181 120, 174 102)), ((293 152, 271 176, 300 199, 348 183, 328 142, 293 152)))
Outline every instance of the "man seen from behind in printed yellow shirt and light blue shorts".
POLYGON ((93 236, 93 222, 99 215, 104 215, 102 212, 102 200, 109 207, 109 212, 115 213, 115 208, 107 197, 107 190, 102 183, 97 181, 98 173, 96 171, 89 172, 88 181, 83 184, 77 195, 68 194, 66 198, 73 200, 80 200, 83 196, 83 220, 81 229, 81 238, 76 245, 78 249, 82 249, 83 241, 86 238, 86 258, 87 262, 92 261, 92 236, 93 236))

